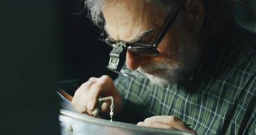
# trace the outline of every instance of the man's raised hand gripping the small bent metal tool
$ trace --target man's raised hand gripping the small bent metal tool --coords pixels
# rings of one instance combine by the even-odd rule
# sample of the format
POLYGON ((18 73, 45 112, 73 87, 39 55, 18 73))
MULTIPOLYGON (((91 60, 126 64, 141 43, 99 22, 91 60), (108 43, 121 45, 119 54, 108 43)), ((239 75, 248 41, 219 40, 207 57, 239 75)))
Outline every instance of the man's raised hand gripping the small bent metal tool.
MULTIPOLYGON (((114 98, 115 113, 119 113, 122 109, 122 97, 116 90, 113 80, 107 75, 100 78, 92 77, 75 91, 72 105, 80 113, 92 115, 92 111, 97 106, 98 98, 108 96, 114 98)), ((101 111, 109 113, 110 102, 104 102, 101 105, 101 111)))

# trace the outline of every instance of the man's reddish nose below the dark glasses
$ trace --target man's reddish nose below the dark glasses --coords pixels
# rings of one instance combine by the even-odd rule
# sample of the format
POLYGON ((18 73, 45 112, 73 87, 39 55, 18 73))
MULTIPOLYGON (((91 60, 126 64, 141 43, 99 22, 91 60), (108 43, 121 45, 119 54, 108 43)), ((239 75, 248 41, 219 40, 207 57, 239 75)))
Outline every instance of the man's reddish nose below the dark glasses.
POLYGON ((149 61, 149 57, 134 55, 130 51, 127 51, 126 53, 126 65, 131 70, 136 70, 139 66, 145 64, 147 61, 149 61))

